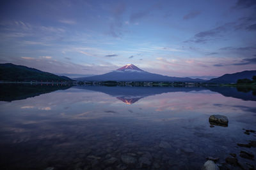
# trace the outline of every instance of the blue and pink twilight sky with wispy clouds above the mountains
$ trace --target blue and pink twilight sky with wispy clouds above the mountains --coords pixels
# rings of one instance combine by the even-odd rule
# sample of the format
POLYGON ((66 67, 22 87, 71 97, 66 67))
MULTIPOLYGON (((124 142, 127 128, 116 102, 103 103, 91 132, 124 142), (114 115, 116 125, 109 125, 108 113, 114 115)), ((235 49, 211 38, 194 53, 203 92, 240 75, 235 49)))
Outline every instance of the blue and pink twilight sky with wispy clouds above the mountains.
POLYGON ((256 1, 1 1, 6 62, 58 74, 125 64, 180 77, 253 70, 256 1))

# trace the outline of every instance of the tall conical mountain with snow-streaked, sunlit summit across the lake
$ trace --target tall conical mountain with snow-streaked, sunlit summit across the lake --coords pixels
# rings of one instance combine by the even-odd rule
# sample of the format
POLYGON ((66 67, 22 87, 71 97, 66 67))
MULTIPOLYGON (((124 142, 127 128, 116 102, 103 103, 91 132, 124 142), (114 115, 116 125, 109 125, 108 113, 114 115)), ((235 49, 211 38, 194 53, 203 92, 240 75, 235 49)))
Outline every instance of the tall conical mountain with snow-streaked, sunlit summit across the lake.
POLYGON ((90 76, 84 78, 75 78, 78 81, 205 81, 193 78, 180 78, 172 76, 163 76, 161 74, 149 73, 134 66, 127 64, 115 71, 97 76, 90 76))

